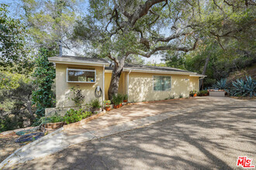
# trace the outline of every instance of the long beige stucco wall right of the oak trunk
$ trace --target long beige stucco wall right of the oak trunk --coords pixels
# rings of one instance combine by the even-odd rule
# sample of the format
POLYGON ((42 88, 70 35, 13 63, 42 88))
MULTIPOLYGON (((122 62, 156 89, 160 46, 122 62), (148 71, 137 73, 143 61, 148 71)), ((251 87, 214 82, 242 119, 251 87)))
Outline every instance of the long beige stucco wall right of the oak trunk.
POLYGON ((189 97, 190 90, 199 90, 199 77, 133 72, 129 75, 129 101, 164 100, 171 95, 178 98, 179 94, 182 94, 183 97, 189 97), (154 75, 171 76, 171 90, 154 91, 154 75))

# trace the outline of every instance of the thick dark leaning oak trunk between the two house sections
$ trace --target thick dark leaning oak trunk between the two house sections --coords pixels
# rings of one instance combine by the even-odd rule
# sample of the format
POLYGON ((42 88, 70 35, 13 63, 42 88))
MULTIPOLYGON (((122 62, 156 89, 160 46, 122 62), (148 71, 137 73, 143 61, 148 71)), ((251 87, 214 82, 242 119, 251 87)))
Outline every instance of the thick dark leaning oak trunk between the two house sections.
POLYGON ((119 79, 123 71, 124 59, 119 63, 115 63, 115 66, 112 70, 111 82, 108 90, 109 100, 112 100, 112 97, 118 93, 119 79))

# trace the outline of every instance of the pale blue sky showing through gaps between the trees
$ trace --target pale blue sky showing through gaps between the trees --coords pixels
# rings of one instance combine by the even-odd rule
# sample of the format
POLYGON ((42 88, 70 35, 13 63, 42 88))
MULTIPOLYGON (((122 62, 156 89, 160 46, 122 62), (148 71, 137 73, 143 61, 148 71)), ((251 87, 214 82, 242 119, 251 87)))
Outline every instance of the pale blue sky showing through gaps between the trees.
MULTIPOLYGON (((1 3, 9 5, 9 12, 10 12, 9 15, 13 18, 16 18, 16 19, 19 18, 19 15, 22 14, 22 12, 23 12, 22 9, 19 8, 19 6, 22 4, 20 0, 0 0, 0 4, 1 3)), ((86 14, 87 7, 88 7, 88 2, 86 0, 85 0, 85 2, 81 1, 81 5, 79 5, 80 11, 83 12, 84 14, 86 14)), ((63 54, 74 56, 74 50, 65 49, 63 54)), ((161 56, 159 56, 159 55, 150 56, 150 58, 146 58, 146 57, 141 57, 141 58, 144 59, 145 63, 147 63, 147 62, 163 63, 161 61, 161 56)))

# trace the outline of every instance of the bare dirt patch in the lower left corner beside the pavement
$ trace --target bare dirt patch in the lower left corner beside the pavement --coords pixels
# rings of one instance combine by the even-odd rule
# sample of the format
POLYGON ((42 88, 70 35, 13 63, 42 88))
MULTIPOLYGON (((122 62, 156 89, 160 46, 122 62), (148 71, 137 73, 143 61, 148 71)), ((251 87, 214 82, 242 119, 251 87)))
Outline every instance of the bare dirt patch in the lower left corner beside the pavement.
POLYGON ((14 141, 16 138, 19 138, 16 134, 0 136, 0 162, 22 147, 14 141))

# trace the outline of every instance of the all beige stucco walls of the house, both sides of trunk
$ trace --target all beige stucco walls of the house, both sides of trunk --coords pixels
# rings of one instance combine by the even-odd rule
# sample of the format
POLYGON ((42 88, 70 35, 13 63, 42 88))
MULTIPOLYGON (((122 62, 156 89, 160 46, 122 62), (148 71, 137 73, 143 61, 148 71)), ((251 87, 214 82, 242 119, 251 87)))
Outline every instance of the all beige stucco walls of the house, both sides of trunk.
MULTIPOLYGON (((119 80, 119 93, 127 93, 127 75, 123 72, 119 80)), ((105 73, 105 99, 108 99, 108 90, 112 73, 105 73)), ((85 103, 95 99, 95 88, 103 90, 103 67, 102 66, 76 66, 67 64, 56 64, 56 107, 71 107, 74 102, 71 98, 71 87, 78 87, 85 95, 85 103), (67 83, 67 67, 80 69, 95 69, 96 83, 67 83)), ((129 101, 163 100, 175 95, 178 97, 189 97, 190 90, 199 90, 199 77, 185 75, 168 75, 159 73, 130 73, 129 75, 129 101), (171 90, 154 91, 153 76, 171 76, 171 90), (185 80, 189 79, 189 80, 185 80)), ((102 93, 103 94, 103 93, 102 93)), ((100 98, 100 101, 103 97, 100 98)))

